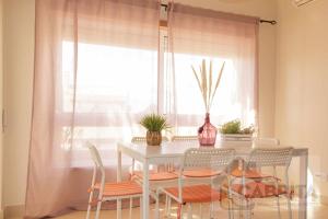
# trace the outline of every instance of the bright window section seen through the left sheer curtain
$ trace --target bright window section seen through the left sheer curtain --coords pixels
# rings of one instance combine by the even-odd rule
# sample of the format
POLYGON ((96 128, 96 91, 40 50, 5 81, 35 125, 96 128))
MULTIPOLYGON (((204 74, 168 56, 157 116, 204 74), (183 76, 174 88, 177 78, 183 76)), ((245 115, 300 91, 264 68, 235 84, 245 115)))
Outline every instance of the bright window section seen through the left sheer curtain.
MULTIPOLYGON (((86 140, 110 151, 117 140, 129 141, 131 136, 144 135, 138 120, 145 113, 156 112, 157 51, 85 43, 79 43, 78 47, 74 83, 71 60, 74 46, 72 42, 62 42, 59 112, 63 117, 72 113, 72 93, 77 84, 73 149, 77 150, 74 155, 81 159, 83 155, 79 153, 86 140)), ((63 136, 68 136, 69 130, 63 126, 63 136)), ((62 148, 68 146, 63 141, 62 148)), ((116 164, 114 160, 109 158, 107 163, 116 164)))

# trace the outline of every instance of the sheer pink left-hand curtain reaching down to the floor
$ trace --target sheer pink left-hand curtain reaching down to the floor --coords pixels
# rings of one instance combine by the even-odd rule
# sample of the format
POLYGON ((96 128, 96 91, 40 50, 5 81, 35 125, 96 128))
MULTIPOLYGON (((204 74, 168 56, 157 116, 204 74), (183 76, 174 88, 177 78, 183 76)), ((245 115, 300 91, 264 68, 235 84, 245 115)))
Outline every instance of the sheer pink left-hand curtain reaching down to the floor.
POLYGON ((159 12, 157 0, 36 0, 26 218, 85 209, 86 140, 116 180, 116 142, 156 111, 159 12))

